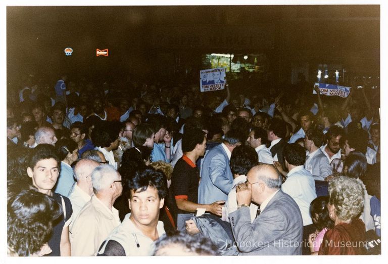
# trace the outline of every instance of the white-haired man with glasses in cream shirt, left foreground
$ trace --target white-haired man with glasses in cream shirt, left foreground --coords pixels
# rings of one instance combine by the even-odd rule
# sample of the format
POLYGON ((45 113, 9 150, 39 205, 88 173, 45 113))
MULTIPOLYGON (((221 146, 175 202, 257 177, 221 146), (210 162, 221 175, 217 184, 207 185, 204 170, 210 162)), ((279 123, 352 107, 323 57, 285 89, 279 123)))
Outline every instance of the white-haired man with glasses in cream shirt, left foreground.
POLYGON ((72 256, 94 256, 108 235, 121 224, 113 207, 123 191, 121 175, 111 165, 100 165, 91 173, 93 195, 70 229, 72 256))

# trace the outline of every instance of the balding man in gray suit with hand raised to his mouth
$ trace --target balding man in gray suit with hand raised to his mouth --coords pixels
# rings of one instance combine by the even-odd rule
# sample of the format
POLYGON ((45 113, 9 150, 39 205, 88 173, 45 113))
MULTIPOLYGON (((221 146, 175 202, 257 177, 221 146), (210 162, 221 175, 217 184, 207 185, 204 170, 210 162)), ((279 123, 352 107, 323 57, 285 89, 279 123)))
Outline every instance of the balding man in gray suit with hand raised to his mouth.
POLYGON ((280 190, 281 177, 269 164, 254 166, 237 185, 238 209, 229 214, 241 255, 301 255, 303 221, 298 205, 280 190), (251 224, 249 206, 260 205, 251 224))

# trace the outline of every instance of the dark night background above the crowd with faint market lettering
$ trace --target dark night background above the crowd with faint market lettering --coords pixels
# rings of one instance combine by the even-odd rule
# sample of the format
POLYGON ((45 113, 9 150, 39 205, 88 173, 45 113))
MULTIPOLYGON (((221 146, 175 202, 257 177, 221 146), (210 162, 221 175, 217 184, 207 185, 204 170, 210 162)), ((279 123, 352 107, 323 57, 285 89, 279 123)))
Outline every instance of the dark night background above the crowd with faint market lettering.
POLYGON ((378 5, 7 7, 7 79, 195 79, 210 53, 265 54, 274 82, 319 64, 379 76, 379 32, 378 5))

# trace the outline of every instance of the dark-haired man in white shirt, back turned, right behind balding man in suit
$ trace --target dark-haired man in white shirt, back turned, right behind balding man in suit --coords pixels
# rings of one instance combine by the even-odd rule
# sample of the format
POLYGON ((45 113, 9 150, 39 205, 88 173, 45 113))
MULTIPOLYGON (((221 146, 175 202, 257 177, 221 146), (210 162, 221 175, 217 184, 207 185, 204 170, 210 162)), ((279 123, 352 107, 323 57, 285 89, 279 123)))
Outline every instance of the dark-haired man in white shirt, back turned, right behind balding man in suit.
MULTIPOLYGON (((322 130, 319 131, 322 133, 322 130)), ((301 145, 297 143, 287 144, 283 154, 288 173, 285 182, 281 185, 281 190, 297 203, 303 219, 303 237, 308 241, 308 236, 315 231, 310 215, 310 203, 317 197, 315 181, 313 175, 303 167, 306 152, 301 145)), ((304 246, 303 252, 307 249, 308 247, 304 246)))

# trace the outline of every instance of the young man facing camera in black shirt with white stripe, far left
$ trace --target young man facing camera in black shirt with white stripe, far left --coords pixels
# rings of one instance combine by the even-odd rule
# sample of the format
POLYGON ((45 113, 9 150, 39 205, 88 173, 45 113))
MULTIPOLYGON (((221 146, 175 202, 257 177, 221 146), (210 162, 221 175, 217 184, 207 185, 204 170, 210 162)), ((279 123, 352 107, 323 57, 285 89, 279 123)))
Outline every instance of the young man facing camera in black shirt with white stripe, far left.
POLYGON ((61 160, 55 154, 55 149, 49 144, 39 144, 32 151, 27 167, 28 177, 38 192, 52 196, 62 205, 64 217, 53 228, 53 235, 49 246, 53 250, 50 256, 70 256, 69 224, 71 222, 72 207, 70 200, 54 193, 60 171, 61 160))

